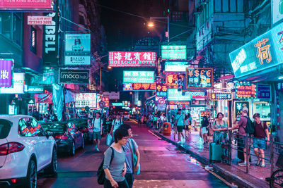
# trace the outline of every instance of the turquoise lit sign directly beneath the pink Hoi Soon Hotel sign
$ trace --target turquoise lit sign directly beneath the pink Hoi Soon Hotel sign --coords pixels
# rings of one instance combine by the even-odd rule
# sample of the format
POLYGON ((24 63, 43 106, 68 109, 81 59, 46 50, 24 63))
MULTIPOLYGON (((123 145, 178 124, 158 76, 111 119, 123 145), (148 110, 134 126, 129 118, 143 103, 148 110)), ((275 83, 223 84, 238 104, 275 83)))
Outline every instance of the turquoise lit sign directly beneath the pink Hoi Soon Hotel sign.
POLYGON ((154 71, 123 71, 124 83, 154 83, 154 71))

